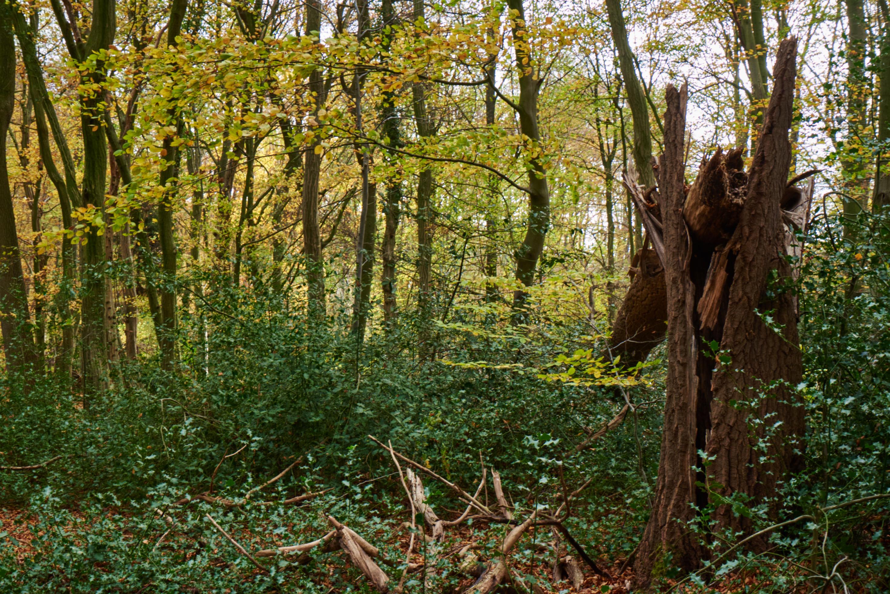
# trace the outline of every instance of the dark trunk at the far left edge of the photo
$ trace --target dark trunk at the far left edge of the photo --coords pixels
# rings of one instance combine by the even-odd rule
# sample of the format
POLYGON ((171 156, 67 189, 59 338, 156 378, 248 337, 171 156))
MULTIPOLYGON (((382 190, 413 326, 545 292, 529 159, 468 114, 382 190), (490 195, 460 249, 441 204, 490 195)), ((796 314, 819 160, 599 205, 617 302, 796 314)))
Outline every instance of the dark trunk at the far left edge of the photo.
POLYGON ((34 362, 34 338, 28 321, 28 297, 21 268, 19 234, 6 169, 6 138, 15 108, 15 45, 12 6, 0 7, 0 330, 3 332, 6 370, 23 372, 34 362))

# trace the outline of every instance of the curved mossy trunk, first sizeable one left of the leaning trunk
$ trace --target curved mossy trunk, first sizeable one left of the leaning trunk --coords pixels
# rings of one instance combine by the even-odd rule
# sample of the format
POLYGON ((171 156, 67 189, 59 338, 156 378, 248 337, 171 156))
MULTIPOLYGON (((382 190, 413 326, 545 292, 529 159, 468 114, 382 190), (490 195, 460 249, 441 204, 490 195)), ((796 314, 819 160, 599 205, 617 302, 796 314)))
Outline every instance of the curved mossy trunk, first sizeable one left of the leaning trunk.
MULTIPOLYGON (((516 54, 516 68, 519 69, 519 126, 530 142, 530 151, 540 150, 541 134, 538 129, 538 86, 539 73, 530 54, 530 43, 527 40, 525 8, 522 0, 508 0, 507 5, 512 12, 513 46, 516 54)), ((494 81, 489 79, 489 84, 494 81)), ((544 240, 550 228, 550 188, 547 185, 544 163, 538 156, 529 160, 529 225, 525 232, 522 245, 516 250, 516 280, 525 287, 535 281, 535 269, 538 258, 544 251, 544 240)), ((514 321, 522 321, 526 314, 527 293, 523 289, 514 291, 513 306, 517 315, 514 321)))

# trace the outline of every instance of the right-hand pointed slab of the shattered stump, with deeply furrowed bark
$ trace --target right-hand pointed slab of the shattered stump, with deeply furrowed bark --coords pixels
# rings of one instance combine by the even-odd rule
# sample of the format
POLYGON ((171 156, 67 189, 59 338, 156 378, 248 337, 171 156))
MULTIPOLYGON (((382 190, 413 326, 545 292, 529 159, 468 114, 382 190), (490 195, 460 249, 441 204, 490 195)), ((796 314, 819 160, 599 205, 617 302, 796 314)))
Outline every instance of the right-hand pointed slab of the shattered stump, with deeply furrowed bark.
MULTIPOLYGON (((797 39, 783 41, 773 69, 773 96, 750 167, 748 197, 727 246, 736 256, 721 349, 729 352, 732 362, 721 365, 715 374, 712 427, 706 444, 706 452, 717 456, 708 467, 708 478, 723 485, 716 490, 724 495, 745 492, 762 499, 775 492, 786 472, 803 467, 795 444, 785 439, 804 430, 804 410, 786 387, 796 386, 803 374, 797 311, 789 291, 767 287, 773 271, 780 280, 791 276, 784 257, 780 201, 791 164, 788 133, 794 116, 796 56, 797 39), (768 289, 778 296, 770 298, 768 289), (771 312, 772 327, 765 323, 771 312), (776 382, 781 383, 771 387, 776 382), (733 406, 733 400, 746 406, 733 406), (761 463, 762 452, 739 434, 747 432, 749 418, 770 419, 773 413, 773 419, 784 425, 772 438, 765 435, 765 426, 756 428, 756 439, 770 443, 771 460, 761 463)), ((717 509, 716 518, 720 525, 733 529, 750 528, 748 518, 734 516, 726 505, 717 509)))

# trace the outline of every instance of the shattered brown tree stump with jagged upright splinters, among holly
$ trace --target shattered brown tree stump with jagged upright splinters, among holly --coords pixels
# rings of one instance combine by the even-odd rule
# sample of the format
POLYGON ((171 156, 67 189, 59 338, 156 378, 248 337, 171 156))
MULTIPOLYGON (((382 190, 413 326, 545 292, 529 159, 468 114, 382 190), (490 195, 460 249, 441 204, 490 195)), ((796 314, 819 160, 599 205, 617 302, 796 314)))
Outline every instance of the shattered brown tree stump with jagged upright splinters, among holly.
MULTIPOLYGON (((662 225, 647 224, 647 231, 665 268, 669 364, 655 502, 636 557, 641 586, 667 567, 689 571, 707 557, 711 543, 688 527, 692 504, 716 504, 709 518, 716 530, 750 533, 751 519, 733 513, 725 498, 764 503, 802 465, 795 440, 804 410, 789 389, 802 366, 796 304, 785 289, 792 272, 782 220, 796 55, 796 39, 781 43, 748 173, 738 169, 738 151, 717 151, 688 194, 685 87, 667 88, 665 154, 653 194, 662 225)), ((765 542, 750 545, 763 549, 765 542)))

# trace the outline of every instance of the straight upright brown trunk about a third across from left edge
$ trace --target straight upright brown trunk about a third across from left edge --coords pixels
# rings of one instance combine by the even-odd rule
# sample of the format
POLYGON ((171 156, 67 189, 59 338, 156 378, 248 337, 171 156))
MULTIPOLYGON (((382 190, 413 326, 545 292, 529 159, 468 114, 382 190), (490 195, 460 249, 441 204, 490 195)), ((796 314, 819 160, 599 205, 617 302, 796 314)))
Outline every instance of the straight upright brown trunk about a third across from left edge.
MULTIPOLYGON (((321 2, 309 0, 306 3, 306 36, 320 35, 321 2)), ((312 119, 318 120, 319 110, 323 109, 327 100, 328 87, 324 81, 324 71, 314 69, 309 75, 309 91, 314 96, 315 104, 312 119)), ((307 134, 317 134, 319 126, 308 126, 307 134)), ((310 317, 324 318, 325 305, 325 262, 321 248, 321 230, 319 227, 319 175, 323 148, 321 139, 313 136, 312 142, 305 153, 303 163, 303 254, 306 257, 306 284, 309 298, 310 317)))

